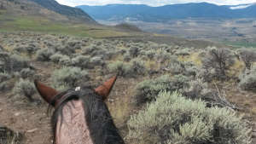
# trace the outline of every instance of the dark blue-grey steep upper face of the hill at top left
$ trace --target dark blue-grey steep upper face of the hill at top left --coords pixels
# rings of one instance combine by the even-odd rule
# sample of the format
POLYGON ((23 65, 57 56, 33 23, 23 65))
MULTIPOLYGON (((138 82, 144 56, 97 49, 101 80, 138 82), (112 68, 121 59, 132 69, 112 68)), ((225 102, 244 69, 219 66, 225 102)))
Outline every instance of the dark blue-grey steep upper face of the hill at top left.
POLYGON ((54 11, 55 13, 66 15, 70 19, 79 19, 84 20, 86 22, 95 22, 90 15, 86 14, 81 9, 68 7, 66 5, 61 5, 60 3, 57 3, 55 0, 30 0, 34 3, 38 3, 38 5, 42 6, 45 9, 49 9, 51 11, 54 11))

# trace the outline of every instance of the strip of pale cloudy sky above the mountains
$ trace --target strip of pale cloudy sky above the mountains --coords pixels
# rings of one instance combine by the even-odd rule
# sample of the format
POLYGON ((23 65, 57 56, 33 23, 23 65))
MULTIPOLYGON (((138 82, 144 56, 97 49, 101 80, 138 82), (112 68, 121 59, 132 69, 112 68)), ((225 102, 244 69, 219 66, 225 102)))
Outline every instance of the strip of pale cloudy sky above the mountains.
POLYGON ((56 0, 57 2, 68 5, 106 5, 115 3, 125 3, 125 4, 147 4, 150 6, 162 6, 166 4, 176 4, 176 3, 215 3, 218 5, 237 5, 243 3, 256 3, 256 0, 56 0))

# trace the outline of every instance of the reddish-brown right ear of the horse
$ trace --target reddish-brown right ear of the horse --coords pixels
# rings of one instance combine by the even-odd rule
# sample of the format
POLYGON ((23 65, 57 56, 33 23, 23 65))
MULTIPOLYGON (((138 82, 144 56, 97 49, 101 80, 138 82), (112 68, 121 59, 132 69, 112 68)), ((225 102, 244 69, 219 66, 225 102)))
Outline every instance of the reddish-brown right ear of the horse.
POLYGON ((104 84, 95 89, 98 95, 102 95, 103 100, 106 100, 108 98, 108 95, 111 92, 113 84, 115 83, 116 79, 117 76, 114 76, 113 78, 108 79, 107 82, 105 82, 104 84))

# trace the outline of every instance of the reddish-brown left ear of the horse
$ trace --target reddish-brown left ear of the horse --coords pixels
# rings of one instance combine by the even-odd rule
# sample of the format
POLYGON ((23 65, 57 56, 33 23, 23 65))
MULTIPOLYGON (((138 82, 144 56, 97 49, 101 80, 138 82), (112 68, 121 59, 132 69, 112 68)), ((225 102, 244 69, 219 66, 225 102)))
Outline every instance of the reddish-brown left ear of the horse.
POLYGON ((49 86, 38 82, 37 80, 34 81, 36 88, 38 89, 39 94, 42 96, 44 101, 47 101, 51 104, 54 96, 58 94, 57 90, 50 88, 49 86))

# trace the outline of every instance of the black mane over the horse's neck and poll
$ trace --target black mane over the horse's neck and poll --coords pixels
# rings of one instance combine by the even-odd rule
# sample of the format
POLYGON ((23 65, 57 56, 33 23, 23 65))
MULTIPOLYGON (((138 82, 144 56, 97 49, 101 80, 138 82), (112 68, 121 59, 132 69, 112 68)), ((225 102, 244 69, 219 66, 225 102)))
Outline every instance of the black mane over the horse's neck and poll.
POLYGON ((92 141, 95 144, 125 144, 119 135, 119 130, 113 124, 113 118, 110 115, 107 105, 102 100, 102 96, 97 95, 94 89, 90 87, 83 87, 77 91, 75 89, 68 89, 56 95, 53 101, 59 100, 60 98, 61 101, 58 102, 59 104, 55 107, 55 111, 51 117, 54 142, 56 124, 60 115, 62 124, 63 107, 67 104, 67 101, 81 100, 83 101, 86 124, 90 129, 92 141))

